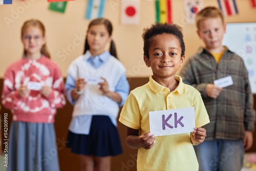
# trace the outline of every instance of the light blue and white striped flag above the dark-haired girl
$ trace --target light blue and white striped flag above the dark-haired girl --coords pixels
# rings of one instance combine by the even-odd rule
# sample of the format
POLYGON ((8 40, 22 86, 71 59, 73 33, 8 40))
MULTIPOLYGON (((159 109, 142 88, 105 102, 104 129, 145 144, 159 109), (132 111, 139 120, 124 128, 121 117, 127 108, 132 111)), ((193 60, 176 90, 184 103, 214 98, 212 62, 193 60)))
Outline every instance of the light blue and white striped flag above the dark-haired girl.
POLYGON ((105 8, 105 0, 88 0, 86 19, 102 18, 105 8))

